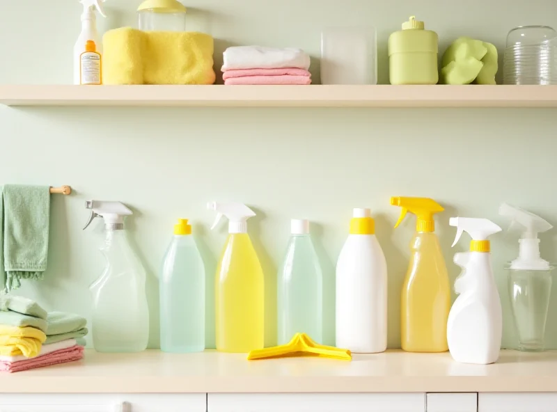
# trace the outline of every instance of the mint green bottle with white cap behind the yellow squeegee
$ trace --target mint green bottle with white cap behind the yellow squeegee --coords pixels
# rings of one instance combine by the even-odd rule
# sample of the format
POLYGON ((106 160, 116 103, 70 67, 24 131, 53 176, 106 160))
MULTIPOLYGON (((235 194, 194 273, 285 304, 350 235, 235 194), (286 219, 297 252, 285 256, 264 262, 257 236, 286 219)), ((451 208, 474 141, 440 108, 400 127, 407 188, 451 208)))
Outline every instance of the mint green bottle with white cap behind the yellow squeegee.
POLYGON ((323 274, 309 222, 292 220, 292 237, 278 272, 278 344, 296 333, 323 340, 323 274))

